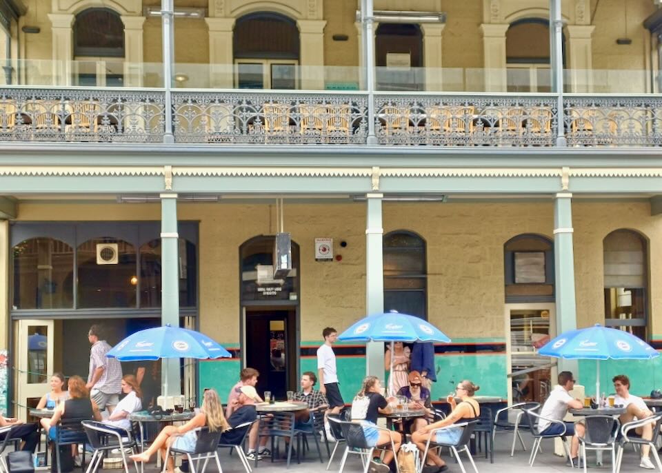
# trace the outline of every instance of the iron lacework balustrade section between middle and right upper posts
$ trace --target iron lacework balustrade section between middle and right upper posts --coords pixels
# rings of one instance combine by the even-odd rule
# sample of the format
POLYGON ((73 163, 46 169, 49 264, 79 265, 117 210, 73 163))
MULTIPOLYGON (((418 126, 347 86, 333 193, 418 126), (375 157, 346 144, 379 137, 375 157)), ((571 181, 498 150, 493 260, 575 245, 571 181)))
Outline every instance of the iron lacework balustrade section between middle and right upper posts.
POLYGON ((443 146, 552 146, 556 99, 545 97, 375 96, 379 143, 443 146))

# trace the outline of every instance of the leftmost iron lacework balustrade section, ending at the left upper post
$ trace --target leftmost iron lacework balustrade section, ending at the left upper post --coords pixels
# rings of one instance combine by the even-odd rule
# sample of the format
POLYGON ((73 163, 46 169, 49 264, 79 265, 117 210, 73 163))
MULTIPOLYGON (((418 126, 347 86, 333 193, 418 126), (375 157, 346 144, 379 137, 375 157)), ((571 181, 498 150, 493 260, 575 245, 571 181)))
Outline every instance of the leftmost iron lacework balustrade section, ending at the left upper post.
POLYGON ((0 90, 0 141, 161 143, 162 92, 0 90))

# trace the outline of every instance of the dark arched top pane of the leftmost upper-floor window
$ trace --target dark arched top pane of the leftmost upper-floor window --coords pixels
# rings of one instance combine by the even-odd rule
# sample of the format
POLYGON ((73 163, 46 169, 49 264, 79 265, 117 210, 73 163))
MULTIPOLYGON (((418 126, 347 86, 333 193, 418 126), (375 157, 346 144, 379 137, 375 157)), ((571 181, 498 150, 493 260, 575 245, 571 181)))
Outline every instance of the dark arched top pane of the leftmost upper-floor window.
POLYGON ((124 57, 124 23, 108 8, 88 8, 76 15, 74 56, 124 57))

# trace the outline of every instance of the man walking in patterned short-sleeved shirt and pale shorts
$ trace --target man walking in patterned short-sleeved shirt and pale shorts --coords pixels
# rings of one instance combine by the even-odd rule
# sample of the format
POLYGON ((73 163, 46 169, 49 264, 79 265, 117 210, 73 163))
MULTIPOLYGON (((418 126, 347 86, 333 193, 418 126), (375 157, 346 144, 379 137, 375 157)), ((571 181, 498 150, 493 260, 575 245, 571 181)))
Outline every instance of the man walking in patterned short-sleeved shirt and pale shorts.
POLYGON ((112 413, 119 403, 119 393, 122 390, 122 366, 117 359, 106 357, 110 345, 103 339, 99 325, 90 327, 88 341, 92 344, 92 348, 90 348, 90 373, 85 386, 90 390, 90 398, 99 406, 99 411, 103 412, 108 408, 108 412, 112 413))

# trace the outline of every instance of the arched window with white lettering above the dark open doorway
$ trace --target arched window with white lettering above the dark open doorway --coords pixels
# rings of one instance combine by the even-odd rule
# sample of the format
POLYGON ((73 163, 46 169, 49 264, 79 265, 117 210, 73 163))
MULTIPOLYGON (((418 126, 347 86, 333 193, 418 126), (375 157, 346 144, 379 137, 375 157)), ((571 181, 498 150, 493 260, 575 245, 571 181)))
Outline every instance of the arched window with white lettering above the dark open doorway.
POLYGON ((299 245, 292 241, 292 270, 283 279, 274 279, 274 237, 261 236, 245 241, 241 257, 241 301, 298 301, 299 245))

